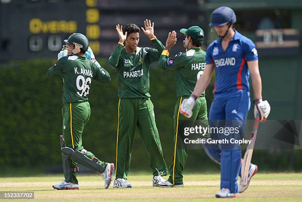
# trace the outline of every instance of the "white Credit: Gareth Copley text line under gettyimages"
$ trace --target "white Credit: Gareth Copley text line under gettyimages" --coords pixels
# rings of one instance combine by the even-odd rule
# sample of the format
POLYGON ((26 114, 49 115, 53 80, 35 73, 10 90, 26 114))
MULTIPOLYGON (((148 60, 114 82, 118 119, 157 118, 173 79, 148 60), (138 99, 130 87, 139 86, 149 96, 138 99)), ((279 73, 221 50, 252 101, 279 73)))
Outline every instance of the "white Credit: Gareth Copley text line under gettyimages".
POLYGON ((197 139, 184 139, 185 144, 251 144, 250 139, 236 139, 236 138, 224 138, 224 139, 212 139, 212 138, 197 138, 197 139))

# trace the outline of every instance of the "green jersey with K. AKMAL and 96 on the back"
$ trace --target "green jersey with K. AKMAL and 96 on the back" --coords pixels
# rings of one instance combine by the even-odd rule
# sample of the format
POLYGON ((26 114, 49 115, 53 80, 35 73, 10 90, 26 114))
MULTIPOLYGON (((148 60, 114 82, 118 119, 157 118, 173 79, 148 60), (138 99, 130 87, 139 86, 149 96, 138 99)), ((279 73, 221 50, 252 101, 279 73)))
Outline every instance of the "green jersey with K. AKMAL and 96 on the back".
POLYGON ((58 62, 47 70, 46 76, 63 77, 63 103, 88 101, 89 89, 93 79, 109 82, 110 75, 85 56, 73 55, 60 58, 58 62))

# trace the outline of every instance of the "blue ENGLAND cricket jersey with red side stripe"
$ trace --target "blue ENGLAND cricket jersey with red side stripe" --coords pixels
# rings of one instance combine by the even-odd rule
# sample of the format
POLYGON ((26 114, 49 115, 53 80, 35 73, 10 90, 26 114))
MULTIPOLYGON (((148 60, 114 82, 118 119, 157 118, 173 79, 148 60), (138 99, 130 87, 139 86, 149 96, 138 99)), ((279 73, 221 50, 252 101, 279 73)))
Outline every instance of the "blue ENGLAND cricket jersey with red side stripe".
POLYGON ((247 61, 258 60, 253 41, 235 31, 226 51, 223 51, 221 38, 214 40, 207 48, 206 65, 214 64, 216 80, 213 93, 244 89, 249 91, 250 72, 247 61))

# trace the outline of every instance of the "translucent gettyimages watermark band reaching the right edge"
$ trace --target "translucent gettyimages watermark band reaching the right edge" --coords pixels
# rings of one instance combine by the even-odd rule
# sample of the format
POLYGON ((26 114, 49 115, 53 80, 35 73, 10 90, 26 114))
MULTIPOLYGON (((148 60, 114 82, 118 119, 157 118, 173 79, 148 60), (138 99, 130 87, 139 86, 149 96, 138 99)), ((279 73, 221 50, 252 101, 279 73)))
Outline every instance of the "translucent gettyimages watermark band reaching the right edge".
MULTIPOLYGON (((179 149, 246 149, 255 120, 179 120, 179 149)), ((259 124, 254 149, 302 149, 302 120, 266 120, 259 124)))

